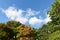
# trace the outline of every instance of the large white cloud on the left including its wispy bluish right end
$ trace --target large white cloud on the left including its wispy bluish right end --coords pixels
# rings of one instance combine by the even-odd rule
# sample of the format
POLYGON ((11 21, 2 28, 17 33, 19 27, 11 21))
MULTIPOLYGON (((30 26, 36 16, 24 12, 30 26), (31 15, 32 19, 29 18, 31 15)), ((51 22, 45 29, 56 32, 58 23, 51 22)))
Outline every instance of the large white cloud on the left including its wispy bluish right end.
POLYGON ((6 10, 1 9, 2 12, 5 13, 5 15, 7 16, 8 19, 10 20, 15 20, 15 21, 19 21, 23 24, 25 24, 26 22, 28 22, 28 18, 30 16, 34 16, 39 14, 39 11, 35 11, 32 10, 31 8, 27 9, 27 10, 22 10, 22 9, 16 9, 15 7, 9 7, 6 10), (23 16, 23 13, 25 13, 25 15, 23 16))

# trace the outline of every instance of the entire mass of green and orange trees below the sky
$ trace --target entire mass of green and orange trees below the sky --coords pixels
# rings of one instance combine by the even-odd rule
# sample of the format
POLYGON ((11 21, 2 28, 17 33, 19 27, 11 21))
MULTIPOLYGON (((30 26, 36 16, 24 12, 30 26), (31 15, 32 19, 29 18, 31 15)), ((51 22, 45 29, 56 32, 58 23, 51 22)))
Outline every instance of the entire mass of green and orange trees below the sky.
POLYGON ((60 40, 60 0, 47 12, 51 20, 35 29, 17 21, 0 23, 0 40, 60 40))

